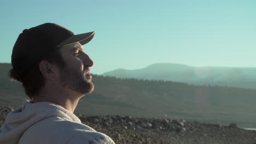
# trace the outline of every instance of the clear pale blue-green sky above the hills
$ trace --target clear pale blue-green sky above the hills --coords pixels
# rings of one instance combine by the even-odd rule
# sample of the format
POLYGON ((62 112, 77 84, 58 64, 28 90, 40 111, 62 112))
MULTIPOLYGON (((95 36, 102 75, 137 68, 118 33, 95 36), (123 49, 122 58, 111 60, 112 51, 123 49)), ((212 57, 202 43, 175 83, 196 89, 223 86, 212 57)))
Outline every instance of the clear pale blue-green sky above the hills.
POLYGON ((1 1, 0 15, 4 63, 23 29, 54 22, 75 34, 97 32, 84 45, 95 74, 162 62, 256 67, 254 0, 1 1))

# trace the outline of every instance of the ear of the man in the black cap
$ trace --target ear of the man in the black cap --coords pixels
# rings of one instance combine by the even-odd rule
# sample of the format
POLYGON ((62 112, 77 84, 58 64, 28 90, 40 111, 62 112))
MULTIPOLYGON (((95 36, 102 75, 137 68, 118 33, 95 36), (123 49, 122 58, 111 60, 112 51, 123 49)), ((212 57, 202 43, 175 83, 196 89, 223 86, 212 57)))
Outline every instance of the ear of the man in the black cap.
POLYGON ((51 64, 47 61, 41 61, 39 63, 39 69, 44 76, 44 79, 56 81, 58 73, 56 65, 51 64))

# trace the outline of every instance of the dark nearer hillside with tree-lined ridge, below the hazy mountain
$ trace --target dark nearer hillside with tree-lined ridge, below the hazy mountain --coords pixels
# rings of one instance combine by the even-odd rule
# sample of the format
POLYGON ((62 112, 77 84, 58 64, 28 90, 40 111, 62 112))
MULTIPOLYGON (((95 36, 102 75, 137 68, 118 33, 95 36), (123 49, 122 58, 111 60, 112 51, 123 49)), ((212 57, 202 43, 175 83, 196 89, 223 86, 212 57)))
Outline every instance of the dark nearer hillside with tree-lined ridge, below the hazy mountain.
MULTIPOLYGON (((28 97, 19 82, 9 81, 10 68, 10 64, 0 63, 0 106, 17 107, 28 97)), ((95 91, 80 99, 75 113, 176 118, 256 127, 255 89, 101 75, 93 75, 92 81, 95 91)))

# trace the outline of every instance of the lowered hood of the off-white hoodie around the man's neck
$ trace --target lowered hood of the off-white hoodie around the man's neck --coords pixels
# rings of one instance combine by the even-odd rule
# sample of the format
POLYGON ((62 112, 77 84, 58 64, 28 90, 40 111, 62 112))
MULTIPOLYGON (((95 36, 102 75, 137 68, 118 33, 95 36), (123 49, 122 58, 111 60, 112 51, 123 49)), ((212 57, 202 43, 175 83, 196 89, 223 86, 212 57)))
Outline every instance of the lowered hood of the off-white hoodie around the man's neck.
POLYGON ((54 116, 81 123, 77 116, 60 105, 49 102, 30 103, 26 100, 20 107, 8 113, 0 129, 0 143, 16 144, 31 125, 54 116))

